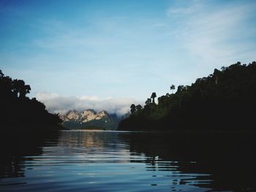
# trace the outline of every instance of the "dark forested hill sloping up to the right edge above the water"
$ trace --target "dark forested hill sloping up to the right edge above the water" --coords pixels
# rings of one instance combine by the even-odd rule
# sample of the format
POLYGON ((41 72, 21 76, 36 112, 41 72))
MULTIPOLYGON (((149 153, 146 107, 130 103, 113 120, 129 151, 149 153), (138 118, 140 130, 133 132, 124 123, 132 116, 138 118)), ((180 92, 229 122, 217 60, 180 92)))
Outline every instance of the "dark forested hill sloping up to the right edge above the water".
MULTIPOLYGON (((175 85, 170 86, 170 91, 175 85)), ((131 115, 118 130, 252 131, 256 117, 256 62, 214 69, 192 85, 178 85, 176 93, 146 105, 131 105, 131 115)))

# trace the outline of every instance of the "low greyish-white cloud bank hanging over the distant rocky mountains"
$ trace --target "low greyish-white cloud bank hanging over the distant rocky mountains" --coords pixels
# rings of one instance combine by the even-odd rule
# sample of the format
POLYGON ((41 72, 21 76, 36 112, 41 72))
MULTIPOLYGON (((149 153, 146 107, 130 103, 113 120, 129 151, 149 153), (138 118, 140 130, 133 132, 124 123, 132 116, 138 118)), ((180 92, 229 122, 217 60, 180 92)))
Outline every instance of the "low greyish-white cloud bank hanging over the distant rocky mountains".
POLYGON ((68 110, 88 110, 97 112, 106 110, 108 113, 121 116, 129 112, 131 104, 141 104, 135 99, 107 98, 97 96, 59 96, 56 93, 37 93, 36 98, 45 104, 49 112, 64 114, 68 110))

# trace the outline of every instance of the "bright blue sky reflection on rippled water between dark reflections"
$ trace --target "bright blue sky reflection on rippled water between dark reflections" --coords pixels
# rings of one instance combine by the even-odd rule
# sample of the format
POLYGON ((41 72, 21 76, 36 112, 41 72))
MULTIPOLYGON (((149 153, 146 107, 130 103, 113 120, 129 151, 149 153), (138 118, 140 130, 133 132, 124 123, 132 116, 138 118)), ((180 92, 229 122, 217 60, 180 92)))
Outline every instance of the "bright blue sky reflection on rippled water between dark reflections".
POLYGON ((183 173, 178 161, 130 151, 129 142, 104 131, 62 131, 56 146, 43 147, 43 154, 28 163, 32 169, 26 170, 26 180, 32 180, 32 189, 39 188, 37 182, 43 180, 61 191, 205 191, 193 185, 198 177, 208 176, 183 173))

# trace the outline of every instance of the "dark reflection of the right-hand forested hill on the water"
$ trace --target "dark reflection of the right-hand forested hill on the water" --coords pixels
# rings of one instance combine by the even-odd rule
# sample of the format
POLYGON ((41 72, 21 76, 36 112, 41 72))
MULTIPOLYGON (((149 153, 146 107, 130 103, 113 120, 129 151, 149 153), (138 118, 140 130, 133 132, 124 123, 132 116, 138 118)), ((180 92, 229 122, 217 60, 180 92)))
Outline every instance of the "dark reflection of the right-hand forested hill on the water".
POLYGON ((148 157, 144 162, 151 170, 166 166, 185 175, 201 174, 193 179, 173 180, 179 185, 197 185, 217 191, 256 188, 255 135, 138 133, 120 137, 129 142, 132 153, 148 157), (208 180, 208 183, 195 180, 208 180))

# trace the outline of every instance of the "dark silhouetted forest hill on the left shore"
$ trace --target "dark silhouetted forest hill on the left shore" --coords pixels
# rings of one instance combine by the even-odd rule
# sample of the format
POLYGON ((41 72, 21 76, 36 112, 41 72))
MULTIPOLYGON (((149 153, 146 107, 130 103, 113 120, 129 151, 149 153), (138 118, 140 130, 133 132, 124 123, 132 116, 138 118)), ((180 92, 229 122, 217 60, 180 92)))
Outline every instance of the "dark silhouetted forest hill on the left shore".
POLYGON ((42 133, 60 127, 58 114, 50 114, 44 104, 26 96, 31 88, 23 80, 12 80, 0 70, 0 90, 1 133, 42 133))

